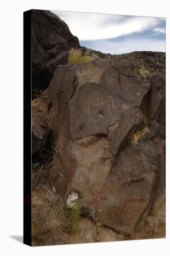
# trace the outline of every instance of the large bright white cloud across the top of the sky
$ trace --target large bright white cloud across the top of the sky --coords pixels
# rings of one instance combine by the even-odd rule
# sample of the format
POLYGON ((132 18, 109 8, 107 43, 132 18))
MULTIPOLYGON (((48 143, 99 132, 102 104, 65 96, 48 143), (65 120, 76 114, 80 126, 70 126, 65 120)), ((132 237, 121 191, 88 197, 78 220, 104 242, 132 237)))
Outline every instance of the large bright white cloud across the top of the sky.
POLYGON ((52 11, 64 20, 72 34, 79 40, 115 38, 120 35, 141 32, 154 28, 163 18, 124 16, 98 13, 73 13, 52 11))

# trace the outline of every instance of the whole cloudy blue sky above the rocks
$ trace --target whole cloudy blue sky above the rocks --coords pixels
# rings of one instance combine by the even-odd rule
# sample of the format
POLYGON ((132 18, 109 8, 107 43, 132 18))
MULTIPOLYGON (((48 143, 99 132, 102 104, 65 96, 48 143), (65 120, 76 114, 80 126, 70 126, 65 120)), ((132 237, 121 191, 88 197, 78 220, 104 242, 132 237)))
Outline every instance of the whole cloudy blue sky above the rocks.
POLYGON ((62 11, 52 13, 65 21, 81 46, 110 54, 165 52, 165 18, 62 11))

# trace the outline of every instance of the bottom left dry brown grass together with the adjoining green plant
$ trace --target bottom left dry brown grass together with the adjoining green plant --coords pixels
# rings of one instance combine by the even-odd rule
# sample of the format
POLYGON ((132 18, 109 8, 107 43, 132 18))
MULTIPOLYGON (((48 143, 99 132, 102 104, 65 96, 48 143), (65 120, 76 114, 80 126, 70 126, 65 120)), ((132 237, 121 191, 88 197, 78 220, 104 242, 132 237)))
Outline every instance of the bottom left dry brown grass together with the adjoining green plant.
POLYGON ((68 208, 66 198, 54 193, 49 185, 40 185, 32 195, 33 245, 66 244, 67 233, 73 233, 79 225, 78 202, 68 208))

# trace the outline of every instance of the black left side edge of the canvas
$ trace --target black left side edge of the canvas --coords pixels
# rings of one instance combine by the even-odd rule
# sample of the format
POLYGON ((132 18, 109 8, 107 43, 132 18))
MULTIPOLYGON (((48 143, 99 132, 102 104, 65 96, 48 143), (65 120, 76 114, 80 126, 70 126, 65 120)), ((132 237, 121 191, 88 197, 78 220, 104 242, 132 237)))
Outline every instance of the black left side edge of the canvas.
POLYGON ((31 243, 31 30, 32 11, 23 13, 24 20, 24 232, 23 243, 31 243))

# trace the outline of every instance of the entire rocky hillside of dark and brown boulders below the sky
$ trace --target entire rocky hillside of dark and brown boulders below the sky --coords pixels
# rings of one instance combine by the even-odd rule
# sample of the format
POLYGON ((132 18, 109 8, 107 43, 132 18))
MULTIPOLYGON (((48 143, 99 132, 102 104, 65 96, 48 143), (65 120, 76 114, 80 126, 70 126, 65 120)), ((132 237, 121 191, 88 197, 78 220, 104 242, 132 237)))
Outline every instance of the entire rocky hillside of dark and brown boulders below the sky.
POLYGON ((165 54, 84 47, 98 58, 67 64, 68 48, 79 47, 67 25, 33 11, 35 31, 33 88, 46 90, 33 100, 34 164, 50 151, 52 193, 74 197, 82 216, 131 239, 165 202, 165 54))

